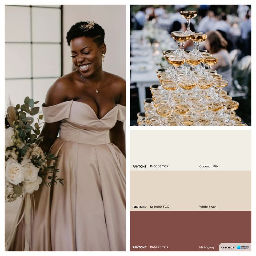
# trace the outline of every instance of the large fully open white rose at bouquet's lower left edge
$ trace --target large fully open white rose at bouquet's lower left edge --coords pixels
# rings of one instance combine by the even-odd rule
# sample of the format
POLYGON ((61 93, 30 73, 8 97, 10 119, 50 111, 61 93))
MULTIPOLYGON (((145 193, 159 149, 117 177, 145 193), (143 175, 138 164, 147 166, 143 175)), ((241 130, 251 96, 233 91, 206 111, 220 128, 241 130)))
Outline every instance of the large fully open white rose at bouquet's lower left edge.
POLYGON ((6 161, 5 178, 14 185, 18 185, 24 181, 24 171, 22 170, 22 166, 13 158, 9 158, 6 161))

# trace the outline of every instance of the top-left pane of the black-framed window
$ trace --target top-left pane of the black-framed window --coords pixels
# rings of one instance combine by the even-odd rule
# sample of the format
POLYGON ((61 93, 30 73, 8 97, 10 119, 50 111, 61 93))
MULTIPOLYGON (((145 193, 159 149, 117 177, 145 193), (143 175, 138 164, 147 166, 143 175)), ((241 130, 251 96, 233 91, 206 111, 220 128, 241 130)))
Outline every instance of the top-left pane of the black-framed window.
POLYGON ((5 6, 5 42, 30 42, 30 7, 5 6))

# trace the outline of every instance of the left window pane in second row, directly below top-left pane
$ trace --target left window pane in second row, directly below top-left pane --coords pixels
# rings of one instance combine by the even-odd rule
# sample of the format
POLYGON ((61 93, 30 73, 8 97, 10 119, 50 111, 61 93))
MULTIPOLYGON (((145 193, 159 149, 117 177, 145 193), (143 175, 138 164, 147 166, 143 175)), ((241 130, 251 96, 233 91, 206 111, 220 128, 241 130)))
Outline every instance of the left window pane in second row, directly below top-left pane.
POLYGON ((5 44, 5 78, 31 77, 31 44, 5 44))

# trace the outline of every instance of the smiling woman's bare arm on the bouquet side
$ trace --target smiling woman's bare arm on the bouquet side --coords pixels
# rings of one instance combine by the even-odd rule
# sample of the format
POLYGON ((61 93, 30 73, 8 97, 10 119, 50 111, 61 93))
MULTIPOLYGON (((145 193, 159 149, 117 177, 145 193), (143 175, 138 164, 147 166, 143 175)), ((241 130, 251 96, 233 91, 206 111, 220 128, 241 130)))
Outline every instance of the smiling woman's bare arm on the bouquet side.
MULTIPOLYGON (((53 106, 67 100, 67 87, 64 79, 59 78, 48 90, 45 98, 45 106, 53 106)), ((61 121, 54 123, 44 123, 40 136, 43 136, 43 141, 40 147, 44 152, 48 152, 53 145, 59 133, 59 125, 61 121)))

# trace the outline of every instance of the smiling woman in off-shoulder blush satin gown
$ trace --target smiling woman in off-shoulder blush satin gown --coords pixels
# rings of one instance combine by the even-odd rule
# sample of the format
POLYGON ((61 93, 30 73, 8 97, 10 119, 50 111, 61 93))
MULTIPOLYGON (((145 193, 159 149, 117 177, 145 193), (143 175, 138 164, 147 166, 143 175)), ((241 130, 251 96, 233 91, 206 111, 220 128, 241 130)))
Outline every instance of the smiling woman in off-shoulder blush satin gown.
MULTIPOLYGON (((48 90, 40 144, 59 155, 65 184, 32 194, 31 251, 125 251, 125 81, 102 70, 104 36, 91 21, 67 33, 76 70, 48 90)), ((25 242, 22 219, 6 250, 25 242)))

